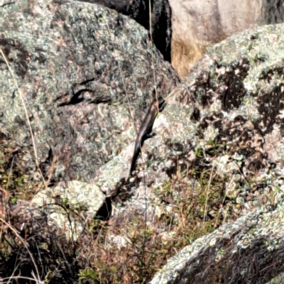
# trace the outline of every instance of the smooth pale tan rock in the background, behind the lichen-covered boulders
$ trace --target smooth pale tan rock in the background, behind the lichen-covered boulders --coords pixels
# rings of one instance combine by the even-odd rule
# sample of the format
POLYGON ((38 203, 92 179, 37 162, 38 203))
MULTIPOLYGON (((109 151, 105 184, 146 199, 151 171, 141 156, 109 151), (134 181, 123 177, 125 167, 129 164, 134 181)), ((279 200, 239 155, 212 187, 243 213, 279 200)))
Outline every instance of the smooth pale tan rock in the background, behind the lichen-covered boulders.
POLYGON ((169 0, 172 8, 172 64, 181 77, 204 55, 207 47, 246 28, 283 23, 279 0, 169 0))

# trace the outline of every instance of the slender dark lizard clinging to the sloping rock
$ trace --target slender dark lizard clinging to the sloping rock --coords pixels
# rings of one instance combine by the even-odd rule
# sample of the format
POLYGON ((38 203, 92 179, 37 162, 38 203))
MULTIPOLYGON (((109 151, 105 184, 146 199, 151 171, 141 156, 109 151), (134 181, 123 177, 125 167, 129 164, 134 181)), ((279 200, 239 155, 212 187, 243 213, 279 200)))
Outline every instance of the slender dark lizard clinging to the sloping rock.
POLYGON ((157 98, 154 96, 153 102, 148 108, 146 116, 144 117, 137 134, 129 175, 131 175, 131 173, 135 168, 136 160, 141 152, 141 148, 143 146, 144 141, 146 141, 146 139, 148 138, 155 136, 155 133, 152 133, 155 117, 160 111, 163 111, 164 108, 165 108, 165 99, 163 99, 163 97, 157 98))

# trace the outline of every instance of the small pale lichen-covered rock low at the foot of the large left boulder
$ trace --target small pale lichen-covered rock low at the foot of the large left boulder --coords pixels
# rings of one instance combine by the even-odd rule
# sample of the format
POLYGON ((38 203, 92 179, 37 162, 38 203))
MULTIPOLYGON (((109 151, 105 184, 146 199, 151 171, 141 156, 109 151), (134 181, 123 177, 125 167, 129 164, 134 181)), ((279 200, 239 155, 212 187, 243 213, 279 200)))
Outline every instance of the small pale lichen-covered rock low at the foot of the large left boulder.
POLYGON ((84 222, 96 217, 105 199, 104 193, 97 185, 72 180, 40 190, 31 202, 38 208, 48 208, 49 223, 57 224, 69 241, 76 240, 82 234, 84 222))

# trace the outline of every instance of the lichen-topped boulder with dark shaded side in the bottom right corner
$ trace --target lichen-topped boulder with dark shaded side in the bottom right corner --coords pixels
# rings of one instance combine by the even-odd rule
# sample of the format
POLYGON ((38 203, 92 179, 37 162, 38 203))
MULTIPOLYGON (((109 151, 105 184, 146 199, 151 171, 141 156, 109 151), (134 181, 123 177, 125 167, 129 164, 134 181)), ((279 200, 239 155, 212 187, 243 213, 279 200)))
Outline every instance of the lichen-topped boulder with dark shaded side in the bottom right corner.
MULTIPOLYGON (((267 283, 283 271, 283 202, 197 239, 171 258, 151 284, 267 283)), ((281 279, 271 283, 283 283, 281 279)))

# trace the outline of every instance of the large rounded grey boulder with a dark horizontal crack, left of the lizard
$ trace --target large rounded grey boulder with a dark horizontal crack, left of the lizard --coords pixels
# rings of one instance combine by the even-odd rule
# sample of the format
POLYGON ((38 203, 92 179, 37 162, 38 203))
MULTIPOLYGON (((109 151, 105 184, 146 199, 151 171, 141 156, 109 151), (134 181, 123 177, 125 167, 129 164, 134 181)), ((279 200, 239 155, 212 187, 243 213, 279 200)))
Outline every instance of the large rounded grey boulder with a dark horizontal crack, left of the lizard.
MULTIPOLYGON (((166 95, 178 77, 146 30, 116 11, 21 1, 0 13, 0 45, 23 94, 43 174, 56 157, 53 180, 93 180, 135 138, 132 121, 151 102, 154 84, 166 95)), ((32 176, 28 121, 4 60, 1 77, 1 143, 18 149, 14 163, 32 176)))

